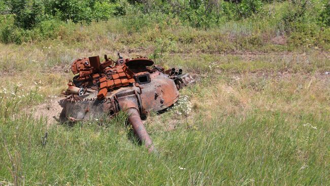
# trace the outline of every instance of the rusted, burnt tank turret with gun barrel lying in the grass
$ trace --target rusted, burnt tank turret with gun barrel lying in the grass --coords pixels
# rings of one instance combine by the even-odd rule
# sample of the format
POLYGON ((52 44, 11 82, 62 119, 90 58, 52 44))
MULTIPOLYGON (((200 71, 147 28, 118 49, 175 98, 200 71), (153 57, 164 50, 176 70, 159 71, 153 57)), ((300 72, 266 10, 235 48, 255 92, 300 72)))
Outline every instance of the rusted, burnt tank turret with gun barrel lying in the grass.
POLYGON ((119 53, 117 61, 106 55, 103 63, 99 56, 77 59, 71 70, 76 76, 62 92, 65 99, 59 101, 62 120, 111 118, 125 111, 134 133, 149 152, 155 149, 141 116, 171 107, 179 99, 178 90, 194 83, 182 69, 164 70, 147 57, 123 59, 119 53))

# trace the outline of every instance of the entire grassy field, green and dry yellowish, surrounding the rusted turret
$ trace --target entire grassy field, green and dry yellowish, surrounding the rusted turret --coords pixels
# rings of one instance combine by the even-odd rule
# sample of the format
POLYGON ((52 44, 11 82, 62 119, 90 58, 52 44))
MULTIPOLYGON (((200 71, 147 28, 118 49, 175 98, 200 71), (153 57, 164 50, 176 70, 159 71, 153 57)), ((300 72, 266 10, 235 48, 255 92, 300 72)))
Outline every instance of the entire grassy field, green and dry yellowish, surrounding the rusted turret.
POLYGON ((296 47, 262 23, 129 33, 116 21, 0 43, 0 185, 330 184, 328 43, 296 47), (117 51, 197 80, 174 109, 145 120, 159 156, 131 140, 125 113, 72 127, 34 117, 62 97, 74 59, 117 51))

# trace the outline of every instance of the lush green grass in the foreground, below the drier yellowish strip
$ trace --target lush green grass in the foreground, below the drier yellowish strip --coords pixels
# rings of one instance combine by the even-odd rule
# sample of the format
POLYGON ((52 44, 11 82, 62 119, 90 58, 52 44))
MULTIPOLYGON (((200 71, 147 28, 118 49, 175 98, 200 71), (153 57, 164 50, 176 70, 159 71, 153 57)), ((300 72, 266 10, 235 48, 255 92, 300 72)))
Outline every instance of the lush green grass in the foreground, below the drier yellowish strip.
MULTIPOLYGON (((221 107, 211 115, 193 112, 197 113, 193 118, 178 119, 171 131, 147 125, 159 157, 129 141, 123 119, 101 126, 92 122, 49 128, 42 119, 28 116, 5 120, 0 172, 3 179, 11 179, 8 149, 18 167, 14 174, 27 185, 329 183, 328 112, 322 117, 258 109, 245 116, 227 115, 221 114, 221 107), (49 137, 42 147, 40 137, 45 131, 49 137)), ((172 116, 156 118, 169 120, 168 115, 172 116)))

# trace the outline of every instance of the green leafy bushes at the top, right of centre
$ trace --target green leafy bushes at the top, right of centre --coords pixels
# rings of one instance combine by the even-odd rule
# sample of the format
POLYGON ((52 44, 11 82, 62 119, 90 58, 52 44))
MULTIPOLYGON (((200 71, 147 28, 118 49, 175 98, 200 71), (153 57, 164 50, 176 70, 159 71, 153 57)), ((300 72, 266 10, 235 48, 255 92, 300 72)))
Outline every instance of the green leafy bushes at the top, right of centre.
POLYGON ((236 2, 182 0, 168 2, 168 4, 163 3, 161 7, 154 7, 154 9, 163 13, 170 13, 197 28, 216 27, 224 20, 244 19, 258 13, 262 7, 260 0, 236 2))

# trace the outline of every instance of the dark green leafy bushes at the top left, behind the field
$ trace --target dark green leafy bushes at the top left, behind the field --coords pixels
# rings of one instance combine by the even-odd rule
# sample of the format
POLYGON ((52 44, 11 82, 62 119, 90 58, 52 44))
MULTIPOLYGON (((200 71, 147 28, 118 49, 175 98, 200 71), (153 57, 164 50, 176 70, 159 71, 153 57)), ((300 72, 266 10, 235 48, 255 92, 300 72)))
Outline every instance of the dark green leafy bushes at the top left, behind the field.
MULTIPOLYGON (((106 0, 8 0, 10 13, 15 15, 15 24, 31 29, 42 21, 59 19, 74 23, 90 23, 92 20, 108 20, 113 15, 125 13, 125 0, 110 3, 106 0)), ((115 1, 114 1, 115 2, 115 1)), ((6 9, 0 2, 0 13, 6 9)))

